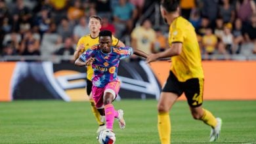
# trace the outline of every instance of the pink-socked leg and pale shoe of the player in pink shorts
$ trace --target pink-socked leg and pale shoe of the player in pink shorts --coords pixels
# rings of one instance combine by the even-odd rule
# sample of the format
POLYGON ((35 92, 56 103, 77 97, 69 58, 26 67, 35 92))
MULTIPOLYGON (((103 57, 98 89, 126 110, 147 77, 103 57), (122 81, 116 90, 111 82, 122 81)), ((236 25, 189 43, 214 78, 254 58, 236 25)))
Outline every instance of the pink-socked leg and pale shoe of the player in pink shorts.
POLYGON ((105 109, 105 117, 106 117, 106 128, 112 130, 114 124, 114 118, 119 120, 120 128, 125 127, 125 120, 123 120, 123 111, 116 111, 114 105, 112 105, 112 101, 117 96, 119 92, 120 82, 110 82, 106 85, 103 96, 103 103, 105 109))

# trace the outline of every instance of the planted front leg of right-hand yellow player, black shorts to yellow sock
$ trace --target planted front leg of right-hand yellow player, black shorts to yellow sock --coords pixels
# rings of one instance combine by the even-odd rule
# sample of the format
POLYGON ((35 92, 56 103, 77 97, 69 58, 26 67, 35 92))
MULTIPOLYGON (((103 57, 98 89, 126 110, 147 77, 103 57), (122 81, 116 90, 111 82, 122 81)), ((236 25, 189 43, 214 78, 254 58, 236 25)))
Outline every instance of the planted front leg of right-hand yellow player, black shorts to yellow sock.
POLYGON ((158 101, 158 134, 162 144, 171 143, 171 120, 169 111, 181 94, 181 82, 179 82, 170 71, 170 75, 163 86, 158 101))

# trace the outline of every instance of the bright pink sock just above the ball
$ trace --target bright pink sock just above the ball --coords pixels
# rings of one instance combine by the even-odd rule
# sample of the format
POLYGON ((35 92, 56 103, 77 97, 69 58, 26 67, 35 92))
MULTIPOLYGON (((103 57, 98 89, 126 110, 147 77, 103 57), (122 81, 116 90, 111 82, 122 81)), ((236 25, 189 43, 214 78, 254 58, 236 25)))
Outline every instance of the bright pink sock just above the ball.
POLYGON ((117 111, 115 110, 114 105, 112 104, 105 105, 104 109, 106 118, 106 128, 113 130, 114 119, 117 111))

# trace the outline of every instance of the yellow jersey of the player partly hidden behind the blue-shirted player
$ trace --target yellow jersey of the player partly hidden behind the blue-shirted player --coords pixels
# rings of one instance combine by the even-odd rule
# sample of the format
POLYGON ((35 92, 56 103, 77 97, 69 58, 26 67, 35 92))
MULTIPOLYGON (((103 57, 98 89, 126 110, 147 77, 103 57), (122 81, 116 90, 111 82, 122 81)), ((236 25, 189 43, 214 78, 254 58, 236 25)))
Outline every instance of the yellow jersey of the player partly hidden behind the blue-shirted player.
MULTIPOLYGON (((98 39, 99 37, 91 37, 91 35, 85 35, 83 37, 81 37, 77 43, 76 49, 78 48, 79 45, 84 45, 85 48, 83 49, 82 52, 85 52, 85 50, 87 50, 88 48, 91 48, 91 46, 93 45, 97 45, 98 44, 98 39)), ((116 37, 114 37, 112 35, 112 45, 116 46, 119 42, 119 39, 117 39, 116 37)), ((87 79, 91 80, 93 78, 93 67, 88 66, 87 67, 87 79)))

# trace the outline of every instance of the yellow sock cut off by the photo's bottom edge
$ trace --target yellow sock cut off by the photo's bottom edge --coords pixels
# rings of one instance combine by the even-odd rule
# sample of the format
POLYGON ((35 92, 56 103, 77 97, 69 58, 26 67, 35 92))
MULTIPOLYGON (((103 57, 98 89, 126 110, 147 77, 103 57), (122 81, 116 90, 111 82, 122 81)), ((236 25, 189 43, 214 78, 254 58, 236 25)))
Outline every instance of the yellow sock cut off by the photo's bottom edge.
POLYGON ((171 121, 169 113, 158 113, 158 134, 161 144, 171 143, 171 121))

